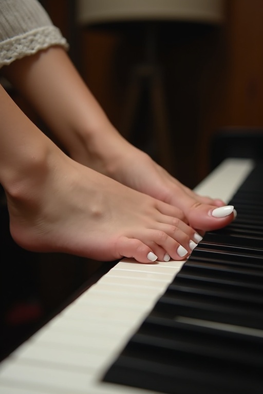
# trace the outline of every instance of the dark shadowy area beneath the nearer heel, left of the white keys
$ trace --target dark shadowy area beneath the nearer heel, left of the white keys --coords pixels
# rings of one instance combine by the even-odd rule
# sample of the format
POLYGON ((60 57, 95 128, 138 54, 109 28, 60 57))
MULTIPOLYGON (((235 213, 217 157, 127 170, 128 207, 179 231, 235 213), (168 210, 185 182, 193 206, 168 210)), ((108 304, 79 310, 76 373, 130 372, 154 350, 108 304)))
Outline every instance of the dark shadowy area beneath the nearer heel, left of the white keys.
POLYGON ((0 361, 115 265, 22 249, 11 238, 1 195, 0 361))

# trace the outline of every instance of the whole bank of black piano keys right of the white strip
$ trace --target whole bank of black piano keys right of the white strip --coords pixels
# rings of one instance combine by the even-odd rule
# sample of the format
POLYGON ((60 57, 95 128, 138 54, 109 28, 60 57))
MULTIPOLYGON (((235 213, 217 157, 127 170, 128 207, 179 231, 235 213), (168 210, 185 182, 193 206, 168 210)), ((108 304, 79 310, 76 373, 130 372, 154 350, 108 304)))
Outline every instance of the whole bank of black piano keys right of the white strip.
POLYGON ((263 393, 263 162, 205 234, 105 380, 161 393, 263 393))

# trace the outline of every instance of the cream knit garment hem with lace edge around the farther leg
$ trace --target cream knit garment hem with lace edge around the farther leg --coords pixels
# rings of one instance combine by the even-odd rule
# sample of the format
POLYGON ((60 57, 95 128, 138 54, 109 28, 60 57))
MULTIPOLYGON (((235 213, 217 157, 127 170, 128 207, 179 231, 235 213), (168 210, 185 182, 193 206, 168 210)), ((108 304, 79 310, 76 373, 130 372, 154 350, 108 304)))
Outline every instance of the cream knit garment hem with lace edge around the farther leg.
POLYGON ((0 67, 53 45, 68 48, 36 0, 0 0, 0 67))

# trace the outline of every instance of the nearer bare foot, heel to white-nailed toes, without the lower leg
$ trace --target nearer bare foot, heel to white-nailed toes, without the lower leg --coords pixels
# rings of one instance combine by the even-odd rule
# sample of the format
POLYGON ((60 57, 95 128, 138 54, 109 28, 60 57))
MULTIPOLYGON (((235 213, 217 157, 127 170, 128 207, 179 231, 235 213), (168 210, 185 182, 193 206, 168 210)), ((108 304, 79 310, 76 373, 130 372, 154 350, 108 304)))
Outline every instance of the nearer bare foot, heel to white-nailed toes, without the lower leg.
POLYGON ((185 259, 196 246, 180 209, 55 152, 7 192, 10 231, 22 247, 149 263, 185 259))

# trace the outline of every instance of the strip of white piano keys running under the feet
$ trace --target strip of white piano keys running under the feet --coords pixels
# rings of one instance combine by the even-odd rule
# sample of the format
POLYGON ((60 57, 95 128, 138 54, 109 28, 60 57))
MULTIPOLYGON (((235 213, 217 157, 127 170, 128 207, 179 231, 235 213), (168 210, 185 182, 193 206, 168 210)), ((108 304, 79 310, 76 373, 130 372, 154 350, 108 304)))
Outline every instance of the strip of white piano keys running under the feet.
MULTIPOLYGON (((253 165, 227 160, 195 191, 228 202, 253 165)), ((118 263, 0 364, 0 394, 156 394, 99 380, 183 264, 118 263)))

